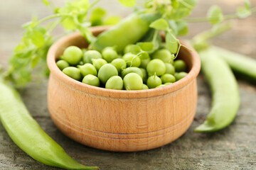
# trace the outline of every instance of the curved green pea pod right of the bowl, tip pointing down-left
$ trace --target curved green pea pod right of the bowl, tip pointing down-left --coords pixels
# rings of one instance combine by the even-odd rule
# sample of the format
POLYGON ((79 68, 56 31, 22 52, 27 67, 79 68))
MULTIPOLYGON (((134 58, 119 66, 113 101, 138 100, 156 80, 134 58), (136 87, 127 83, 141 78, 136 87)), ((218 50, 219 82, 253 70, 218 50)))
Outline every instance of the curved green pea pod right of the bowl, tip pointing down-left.
POLYGON ((208 49, 199 52, 203 74, 205 74, 213 101, 206 121, 195 132, 214 132, 233 122, 240 106, 238 82, 228 64, 208 49))

